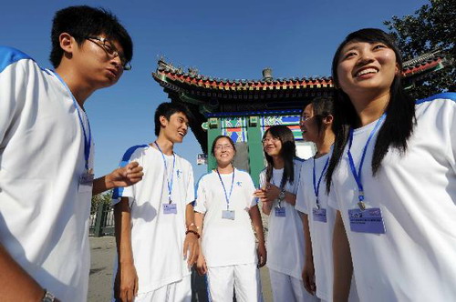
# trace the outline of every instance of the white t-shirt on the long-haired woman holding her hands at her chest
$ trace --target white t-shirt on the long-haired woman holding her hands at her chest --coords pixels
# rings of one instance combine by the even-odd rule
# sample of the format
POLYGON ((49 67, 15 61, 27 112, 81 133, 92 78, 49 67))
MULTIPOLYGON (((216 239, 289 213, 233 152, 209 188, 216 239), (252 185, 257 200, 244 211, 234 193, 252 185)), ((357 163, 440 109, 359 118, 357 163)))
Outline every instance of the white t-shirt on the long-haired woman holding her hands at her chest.
MULTIPOLYGON (((297 186, 299 185, 299 176, 303 160, 295 159, 295 181, 285 184, 285 191, 296 194, 297 186)), ((272 183, 280 186, 282 177, 276 177, 275 174, 283 174, 279 170, 273 170, 272 183)), ((266 170, 260 174, 260 186, 264 187, 266 183, 266 170)), ((275 200, 274 206, 271 209, 268 220, 268 233, 266 238, 267 262, 266 266, 269 269, 302 279, 301 273, 304 267, 305 259, 305 243, 304 229, 301 217, 295 210, 295 206, 290 205, 286 201, 282 201, 281 206, 285 207, 285 217, 275 216, 275 207, 278 206, 278 201, 275 200)))

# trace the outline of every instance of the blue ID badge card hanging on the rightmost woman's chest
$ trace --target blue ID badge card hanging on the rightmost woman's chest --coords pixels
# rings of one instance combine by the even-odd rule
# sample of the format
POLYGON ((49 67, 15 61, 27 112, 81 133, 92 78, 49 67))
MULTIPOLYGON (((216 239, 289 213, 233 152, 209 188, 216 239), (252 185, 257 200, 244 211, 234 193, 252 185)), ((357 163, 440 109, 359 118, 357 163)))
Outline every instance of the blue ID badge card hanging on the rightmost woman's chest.
POLYGON ((361 211, 358 208, 348 210, 350 229, 353 232, 385 234, 385 225, 378 207, 361 211))

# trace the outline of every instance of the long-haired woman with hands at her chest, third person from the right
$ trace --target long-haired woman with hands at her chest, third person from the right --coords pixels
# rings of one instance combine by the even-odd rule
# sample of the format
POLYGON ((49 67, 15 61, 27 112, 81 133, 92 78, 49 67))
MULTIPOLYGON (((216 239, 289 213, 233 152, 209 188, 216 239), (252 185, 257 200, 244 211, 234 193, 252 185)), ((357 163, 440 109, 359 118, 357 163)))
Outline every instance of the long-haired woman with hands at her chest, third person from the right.
POLYGON ((302 161, 295 157, 295 138, 287 126, 272 126, 264 132, 267 166, 260 174, 255 196, 269 216, 266 248, 267 267, 275 301, 308 301, 313 297, 304 289, 304 231, 295 210, 302 161))

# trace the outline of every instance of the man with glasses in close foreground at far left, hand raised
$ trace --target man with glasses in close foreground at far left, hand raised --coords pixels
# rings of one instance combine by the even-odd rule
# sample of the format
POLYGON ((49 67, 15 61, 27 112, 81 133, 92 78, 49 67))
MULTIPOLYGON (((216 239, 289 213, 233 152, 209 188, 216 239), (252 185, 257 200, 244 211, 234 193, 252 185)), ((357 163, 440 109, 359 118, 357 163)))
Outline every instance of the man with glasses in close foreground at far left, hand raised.
POLYGON ((84 110, 130 66, 130 35, 109 12, 72 6, 55 15, 51 38, 55 70, 0 47, 2 301, 85 301, 91 196, 142 177, 131 164, 93 179, 84 110))

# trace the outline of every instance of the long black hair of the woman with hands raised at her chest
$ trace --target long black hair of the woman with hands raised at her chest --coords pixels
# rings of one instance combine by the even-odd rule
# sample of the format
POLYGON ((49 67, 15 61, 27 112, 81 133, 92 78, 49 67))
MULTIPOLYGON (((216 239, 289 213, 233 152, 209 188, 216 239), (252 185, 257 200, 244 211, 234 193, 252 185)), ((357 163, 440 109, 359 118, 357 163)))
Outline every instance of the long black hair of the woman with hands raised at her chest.
MULTIPOLYGON (((293 159, 296 156, 296 145, 295 145, 295 136, 293 132, 284 125, 275 125, 270 127, 264 132, 264 137, 270 134, 271 136, 277 138, 282 143, 282 149, 280 150, 280 156, 284 159, 284 175, 280 182, 280 187, 284 188, 287 181, 292 183, 295 180, 295 167, 293 165, 293 159)), ((264 151, 264 157, 266 157, 267 166, 266 166, 266 181, 270 182, 273 177, 273 166, 274 161, 272 156, 268 156, 264 151)))

